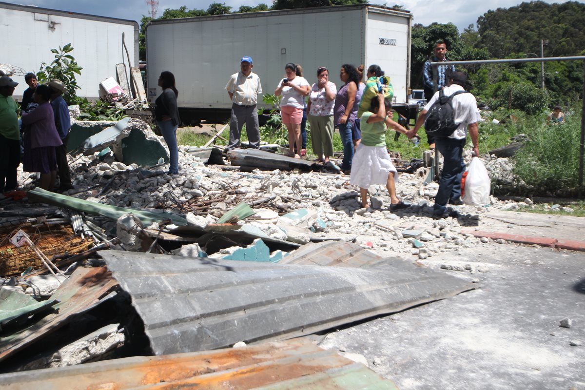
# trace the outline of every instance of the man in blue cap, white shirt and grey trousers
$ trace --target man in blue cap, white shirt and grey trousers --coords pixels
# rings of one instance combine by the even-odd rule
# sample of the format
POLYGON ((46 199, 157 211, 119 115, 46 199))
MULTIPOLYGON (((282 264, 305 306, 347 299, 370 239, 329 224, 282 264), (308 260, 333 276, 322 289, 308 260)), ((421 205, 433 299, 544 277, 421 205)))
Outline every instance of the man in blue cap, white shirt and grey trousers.
POLYGON ((240 134, 242 126, 246 123, 246 134, 249 147, 260 147, 260 126, 258 125, 258 112, 256 103, 258 94, 262 93, 260 78, 252 73, 252 57, 242 57, 238 73, 232 74, 225 89, 228 90, 232 101, 232 119, 229 123, 229 149, 240 146, 240 134))

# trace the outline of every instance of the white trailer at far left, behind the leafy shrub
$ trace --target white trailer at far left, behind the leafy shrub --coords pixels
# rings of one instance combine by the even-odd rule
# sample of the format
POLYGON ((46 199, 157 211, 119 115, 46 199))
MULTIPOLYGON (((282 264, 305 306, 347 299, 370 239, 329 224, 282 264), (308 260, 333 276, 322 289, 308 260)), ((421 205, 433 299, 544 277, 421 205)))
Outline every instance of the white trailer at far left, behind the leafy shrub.
MULTIPOLYGON (((54 60, 51 49, 71 43, 74 50, 70 54, 83 67, 76 78, 81 87, 77 95, 97 99, 99 82, 116 76, 116 64, 125 63, 127 71, 130 66, 138 67, 138 30, 133 20, 0 2, 0 64, 37 73, 43 62, 50 64, 54 60), (130 64, 122 49, 122 33, 130 64)), ((28 86, 23 75, 12 78, 19 82, 14 95, 20 99, 28 86)))

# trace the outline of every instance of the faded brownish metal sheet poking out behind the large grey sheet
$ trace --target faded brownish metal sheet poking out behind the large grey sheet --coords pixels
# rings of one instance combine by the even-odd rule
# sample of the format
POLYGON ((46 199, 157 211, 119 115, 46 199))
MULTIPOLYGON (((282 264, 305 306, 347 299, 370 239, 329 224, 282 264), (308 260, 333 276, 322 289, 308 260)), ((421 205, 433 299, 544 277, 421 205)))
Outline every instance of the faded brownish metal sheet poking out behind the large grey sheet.
POLYGON ((279 264, 338 265, 339 267, 372 267, 376 265, 402 265, 406 269, 417 268, 399 257, 381 257, 347 241, 322 241, 308 243, 295 250, 279 264))

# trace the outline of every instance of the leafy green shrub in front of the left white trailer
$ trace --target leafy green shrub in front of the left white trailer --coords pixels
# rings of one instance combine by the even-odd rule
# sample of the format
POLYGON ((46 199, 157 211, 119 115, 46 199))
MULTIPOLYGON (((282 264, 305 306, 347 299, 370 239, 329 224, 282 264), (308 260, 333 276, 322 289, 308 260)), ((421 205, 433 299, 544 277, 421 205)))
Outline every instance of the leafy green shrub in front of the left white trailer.
POLYGON ((63 47, 59 46, 59 49, 51 49, 51 53, 55 54, 55 59, 49 65, 46 63, 40 65, 40 70, 37 72, 37 80, 40 84, 44 84, 53 79, 63 81, 63 84, 67 88, 66 93, 63 94, 63 98, 67 103, 75 104, 77 103, 75 101, 77 98, 76 91, 80 89, 75 80, 75 75, 81 74, 83 68, 77 64, 77 61, 75 61, 75 58, 71 54, 68 54, 71 51, 73 51, 71 43, 67 43, 63 47))

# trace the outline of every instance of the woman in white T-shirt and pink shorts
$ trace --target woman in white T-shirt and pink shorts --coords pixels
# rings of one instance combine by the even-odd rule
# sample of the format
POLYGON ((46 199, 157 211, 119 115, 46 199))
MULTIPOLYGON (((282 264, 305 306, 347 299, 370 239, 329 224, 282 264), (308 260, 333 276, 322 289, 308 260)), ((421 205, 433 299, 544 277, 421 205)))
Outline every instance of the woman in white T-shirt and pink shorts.
POLYGON ((297 65, 287 64, 284 67, 287 77, 280 80, 274 95, 281 96, 280 115, 284 126, 288 130, 288 150, 290 157, 301 158, 294 153, 295 146, 301 150, 301 122, 302 109, 305 108, 305 96, 309 94, 311 86, 302 76, 297 76, 297 65))

